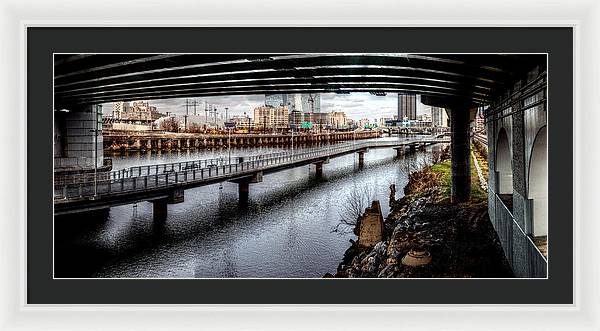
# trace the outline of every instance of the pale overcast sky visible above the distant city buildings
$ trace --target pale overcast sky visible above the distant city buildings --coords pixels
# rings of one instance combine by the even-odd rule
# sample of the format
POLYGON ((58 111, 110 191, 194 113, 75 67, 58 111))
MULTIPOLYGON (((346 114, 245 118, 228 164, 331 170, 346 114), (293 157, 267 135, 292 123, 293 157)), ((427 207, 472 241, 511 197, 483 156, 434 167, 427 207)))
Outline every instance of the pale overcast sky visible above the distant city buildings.
MULTIPOLYGON (((232 95, 219 97, 194 98, 199 105, 197 110, 204 110, 204 102, 215 105, 219 112, 229 108, 229 116, 242 115, 244 112, 252 117, 255 107, 265 103, 264 95, 232 95)), ((420 101, 420 98, 418 98, 420 101)), ((426 112, 425 106, 417 102, 417 114, 426 112)), ((156 106, 161 113, 171 112, 176 114, 185 114, 185 99, 163 99, 149 100, 150 105, 156 106)), ((104 114, 111 114, 112 103, 102 105, 104 114)), ((348 118, 359 120, 368 118, 369 120, 382 117, 392 117, 398 113, 398 95, 390 93, 386 96, 374 96, 370 93, 351 93, 351 94, 321 94, 321 112, 343 111, 348 118)), ((193 108, 190 108, 190 114, 193 108)))

